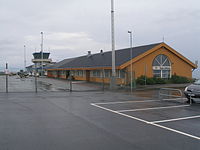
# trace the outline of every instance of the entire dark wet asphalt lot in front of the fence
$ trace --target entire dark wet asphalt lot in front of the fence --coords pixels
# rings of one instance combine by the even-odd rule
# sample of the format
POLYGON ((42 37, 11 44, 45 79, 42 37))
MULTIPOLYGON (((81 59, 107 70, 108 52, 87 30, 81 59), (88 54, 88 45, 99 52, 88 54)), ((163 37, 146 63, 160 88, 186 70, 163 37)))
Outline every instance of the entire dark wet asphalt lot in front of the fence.
POLYGON ((146 93, 1 92, 0 149, 199 149, 200 105, 146 93))

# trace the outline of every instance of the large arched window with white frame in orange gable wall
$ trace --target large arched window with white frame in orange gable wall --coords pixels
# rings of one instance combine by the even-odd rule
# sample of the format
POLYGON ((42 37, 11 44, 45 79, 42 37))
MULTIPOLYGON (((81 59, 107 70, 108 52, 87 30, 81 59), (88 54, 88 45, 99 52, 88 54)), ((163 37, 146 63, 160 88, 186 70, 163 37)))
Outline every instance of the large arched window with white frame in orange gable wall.
POLYGON ((158 55, 153 60, 153 76, 156 78, 170 78, 171 62, 166 55, 158 55))

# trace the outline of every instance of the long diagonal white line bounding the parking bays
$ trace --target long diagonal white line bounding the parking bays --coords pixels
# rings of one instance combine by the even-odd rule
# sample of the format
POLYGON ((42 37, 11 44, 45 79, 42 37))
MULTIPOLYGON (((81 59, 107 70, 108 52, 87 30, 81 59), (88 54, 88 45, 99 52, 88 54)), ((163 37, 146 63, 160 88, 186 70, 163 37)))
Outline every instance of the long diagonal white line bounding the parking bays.
POLYGON ((168 128, 168 127, 165 127, 165 126, 162 126, 162 125, 159 125, 159 124, 156 124, 156 123, 152 123, 152 122, 149 122, 149 121, 146 121, 146 120, 137 118, 137 117, 133 117, 133 116, 130 116, 130 115, 121 113, 121 112, 117 112, 117 111, 114 111, 114 110, 111 110, 111 109, 108 109, 108 108, 99 106, 99 105, 97 105, 97 104, 95 104, 95 103, 91 103, 91 105, 92 105, 92 106, 95 106, 95 107, 98 107, 98 108, 100 108, 100 109, 103 109, 103 110, 106 110, 106 111, 109 111, 109 112, 112 112, 112 113, 115 113, 115 114, 124 116, 124 117, 128 117, 128 118, 131 118, 131 119, 134 119, 134 120, 138 120, 138 121, 144 122, 144 123, 146 123, 146 124, 150 124, 150 125, 152 125, 152 126, 156 126, 156 127, 159 127, 159 128, 162 128, 162 129, 171 131, 171 132, 175 132, 175 133, 178 133, 178 134, 181 134, 181 135, 184 135, 184 136, 193 138, 193 139, 200 140, 200 137, 198 137, 198 136, 194 136, 194 135, 191 135, 191 134, 188 134, 188 133, 179 131, 179 130, 175 130, 175 129, 172 129, 172 128, 168 128))

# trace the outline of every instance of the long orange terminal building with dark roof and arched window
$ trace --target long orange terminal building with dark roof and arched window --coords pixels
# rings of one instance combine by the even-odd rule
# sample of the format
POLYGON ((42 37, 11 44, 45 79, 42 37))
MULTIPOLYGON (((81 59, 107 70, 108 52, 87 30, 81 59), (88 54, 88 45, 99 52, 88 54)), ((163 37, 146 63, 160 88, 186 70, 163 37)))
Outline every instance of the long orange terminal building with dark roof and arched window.
MULTIPOLYGON (((68 79, 72 75, 75 80, 110 83, 111 55, 111 51, 101 50, 96 54, 88 51, 85 56, 65 59, 47 68, 47 76, 68 79)), ((192 78, 192 71, 197 68, 196 64, 163 42, 116 50, 115 57, 116 81, 121 85, 130 83, 131 74, 134 79, 142 75, 157 78, 179 75, 192 78)))

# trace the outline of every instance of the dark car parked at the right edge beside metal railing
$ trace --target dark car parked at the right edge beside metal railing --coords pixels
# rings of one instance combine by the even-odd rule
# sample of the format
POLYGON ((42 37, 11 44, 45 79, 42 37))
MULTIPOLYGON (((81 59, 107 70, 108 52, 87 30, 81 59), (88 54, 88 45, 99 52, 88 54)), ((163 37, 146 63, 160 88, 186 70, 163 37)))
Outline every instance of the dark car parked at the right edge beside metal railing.
POLYGON ((187 86, 184 91, 185 96, 188 99, 188 102, 191 101, 194 103, 195 100, 200 100, 200 80, 195 81, 193 84, 187 86))

